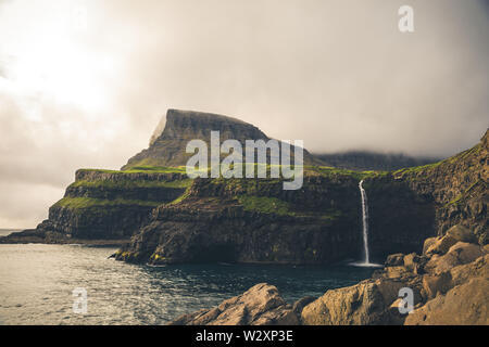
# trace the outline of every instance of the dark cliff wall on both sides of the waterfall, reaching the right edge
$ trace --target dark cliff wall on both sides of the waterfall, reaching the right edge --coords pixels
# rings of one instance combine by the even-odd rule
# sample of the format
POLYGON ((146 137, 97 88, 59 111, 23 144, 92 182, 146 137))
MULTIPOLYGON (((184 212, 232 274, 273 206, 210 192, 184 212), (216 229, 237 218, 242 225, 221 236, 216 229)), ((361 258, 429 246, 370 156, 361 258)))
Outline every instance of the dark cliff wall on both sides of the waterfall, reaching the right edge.
POLYGON ((394 172, 311 168, 299 191, 279 180, 196 180, 176 204, 156 208, 117 258, 150 264, 240 261, 330 264, 360 258, 364 179, 369 247, 421 252, 423 240, 455 223, 487 243, 488 133, 443 162, 394 172))

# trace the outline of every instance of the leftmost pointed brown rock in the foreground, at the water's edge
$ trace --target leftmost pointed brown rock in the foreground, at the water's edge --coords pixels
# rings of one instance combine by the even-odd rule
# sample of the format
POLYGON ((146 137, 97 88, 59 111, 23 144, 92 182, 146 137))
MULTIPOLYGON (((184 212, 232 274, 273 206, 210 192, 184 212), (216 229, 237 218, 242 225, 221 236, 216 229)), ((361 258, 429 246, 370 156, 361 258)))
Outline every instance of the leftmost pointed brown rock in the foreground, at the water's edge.
POLYGON ((297 325, 298 317, 278 290, 261 283, 212 309, 184 314, 171 325, 297 325))

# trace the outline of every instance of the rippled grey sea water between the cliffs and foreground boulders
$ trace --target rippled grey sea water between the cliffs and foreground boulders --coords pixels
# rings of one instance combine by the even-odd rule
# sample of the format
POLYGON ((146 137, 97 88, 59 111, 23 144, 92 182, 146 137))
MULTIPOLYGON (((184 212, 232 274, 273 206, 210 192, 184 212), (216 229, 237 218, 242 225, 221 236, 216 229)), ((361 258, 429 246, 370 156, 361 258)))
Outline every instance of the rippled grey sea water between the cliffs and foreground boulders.
POLYGON ((165 324, 183 313, 216 306, 258 283, 276 285, 293 303, 352 285, 373 271, 350 266, 150 267, 109 259, 115 250, 0 245, 0 324, 165 324), (86 313, 74 310, 75 288, 86 292, 86 313))

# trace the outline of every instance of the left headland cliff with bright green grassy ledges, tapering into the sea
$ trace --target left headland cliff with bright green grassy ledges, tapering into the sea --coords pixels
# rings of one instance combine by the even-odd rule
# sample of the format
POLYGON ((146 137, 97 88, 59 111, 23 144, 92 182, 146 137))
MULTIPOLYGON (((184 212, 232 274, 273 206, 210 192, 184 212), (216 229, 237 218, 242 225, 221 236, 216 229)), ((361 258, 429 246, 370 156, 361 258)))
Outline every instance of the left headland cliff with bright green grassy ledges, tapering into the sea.
POLYGON ((36 230, 1 239, 64 243, 73 240, 127 240, 156 206, 181 195, 191 180, 177 168, 130 171, 80 169, 64 197, 49 208, 36 230))

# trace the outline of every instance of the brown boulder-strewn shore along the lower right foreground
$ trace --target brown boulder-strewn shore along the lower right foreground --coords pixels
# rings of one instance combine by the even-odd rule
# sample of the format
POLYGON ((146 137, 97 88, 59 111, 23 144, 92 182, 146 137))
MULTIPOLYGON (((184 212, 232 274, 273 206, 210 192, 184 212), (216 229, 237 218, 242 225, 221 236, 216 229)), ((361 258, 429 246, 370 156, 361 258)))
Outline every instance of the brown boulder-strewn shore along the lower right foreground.
POLYGON ((425 241, 423 254, 393 254, 385 268, 349 287, 287 304, 260 283, 217 307, 184 314, 171 325, 424 325, 489 324, 489 246, 462 226, 425 241), (413 293, 411 313, 399 296, 413 293))

